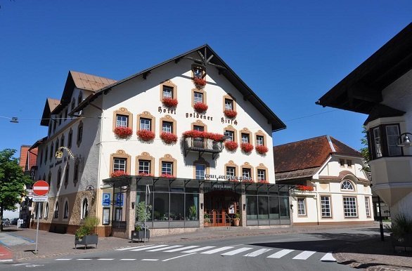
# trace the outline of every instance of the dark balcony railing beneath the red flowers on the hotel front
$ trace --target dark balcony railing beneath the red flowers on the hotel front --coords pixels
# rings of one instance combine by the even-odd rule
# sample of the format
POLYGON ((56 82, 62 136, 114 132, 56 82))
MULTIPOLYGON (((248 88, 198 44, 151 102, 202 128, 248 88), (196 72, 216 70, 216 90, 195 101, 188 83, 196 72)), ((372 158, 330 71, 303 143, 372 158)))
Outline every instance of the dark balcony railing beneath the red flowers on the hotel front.
POLYGON ((223 150, 224 144, 209 138, 185 138, 184 139, 184 154, 188 152, 199 152, 199 157, 203 153, 211 153, 212 159, 223 150))

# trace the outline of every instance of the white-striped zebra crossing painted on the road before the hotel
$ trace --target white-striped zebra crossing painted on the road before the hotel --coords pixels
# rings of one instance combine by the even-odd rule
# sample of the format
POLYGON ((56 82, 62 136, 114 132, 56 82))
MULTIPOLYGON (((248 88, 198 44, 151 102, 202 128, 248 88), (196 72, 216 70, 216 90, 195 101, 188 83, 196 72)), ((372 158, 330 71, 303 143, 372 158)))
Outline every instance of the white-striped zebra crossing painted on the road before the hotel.
MULTIPOLYGON (((183 245, 149 245, 139 247, 127 247, 116 249, 117 251, 147 251, 147 252, 167 252, 167 253, 199 253, 202 255, 219 254, 221 256, 243 256, 243 257, 257 257, 264 256, 266 258, 280 259, 283 257, 291 257, 292 260, 307 260, 314 256, 316 251, 297 251, 294 249, 259 249, 257 247, 238 247, 238 246, 183 246, 183 245), (297 255, 296 255, 297 253, 297 255)), ((324 262, 335 262, 332 253, 324 253, 320 258, 324 262)))

